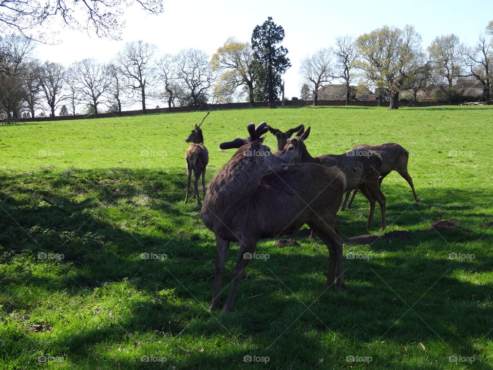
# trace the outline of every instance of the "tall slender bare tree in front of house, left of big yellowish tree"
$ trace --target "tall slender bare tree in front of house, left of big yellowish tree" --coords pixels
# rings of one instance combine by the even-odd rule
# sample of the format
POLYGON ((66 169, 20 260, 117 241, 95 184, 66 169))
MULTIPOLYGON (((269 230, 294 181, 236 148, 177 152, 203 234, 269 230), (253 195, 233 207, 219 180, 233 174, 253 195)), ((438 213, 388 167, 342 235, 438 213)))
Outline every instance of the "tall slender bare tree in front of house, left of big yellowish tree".
POLYGON ((346 85, 346 105, 349 105, 351 98, 351 70, 356 66, 356 60, 359 57, 356 48, 356 41, 349 35, 339 36, 335 39, 335 47, 332 52, 335 55, 335 73, 334 79, 339 79, 346 85))

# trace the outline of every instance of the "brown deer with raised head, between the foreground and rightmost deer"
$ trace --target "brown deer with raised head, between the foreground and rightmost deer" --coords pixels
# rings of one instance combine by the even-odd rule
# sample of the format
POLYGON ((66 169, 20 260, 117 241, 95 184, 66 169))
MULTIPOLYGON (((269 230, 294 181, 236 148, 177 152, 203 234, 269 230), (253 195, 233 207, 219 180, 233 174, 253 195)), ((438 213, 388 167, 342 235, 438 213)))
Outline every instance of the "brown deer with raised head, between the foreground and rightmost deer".
POLYGON ((376 200, 382 211, 382 228, 380 230, 385 229, 385 195, 380 190, 380 184, 378 183, 378 171, 380 171, 382 165, 380 155, 366 149, 356 149, 345 154, 325 154, 319 157, 312 157, 308 153, 304 142, 309 135, 310 127, 301 136, 289 139, 279 155, 280 158, 286 159, 290 163, 320 163, 327 166, 336 166, 342 170, 347 180, 346 191, 359 188, 370 202, 367 228, 371 228, 376 200))

